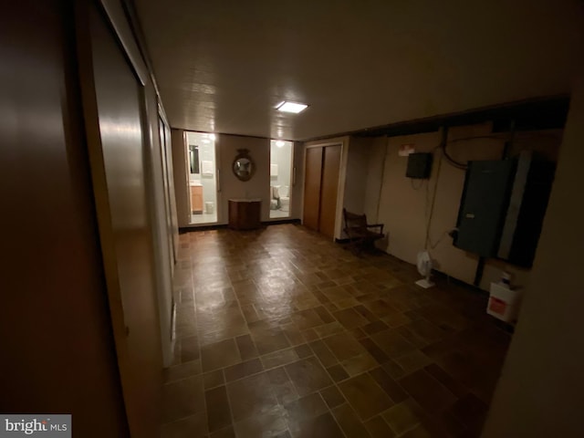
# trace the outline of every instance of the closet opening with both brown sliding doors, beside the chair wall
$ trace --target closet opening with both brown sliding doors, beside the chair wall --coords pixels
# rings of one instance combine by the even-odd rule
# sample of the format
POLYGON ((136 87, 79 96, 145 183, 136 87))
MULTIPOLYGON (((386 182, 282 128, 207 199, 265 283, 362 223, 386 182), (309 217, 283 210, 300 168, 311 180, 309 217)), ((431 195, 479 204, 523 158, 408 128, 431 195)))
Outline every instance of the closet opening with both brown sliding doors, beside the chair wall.
POLYGON ((306 149, 302 224, 330 238, 335 237, 340 154, 340 144, 306 149))

